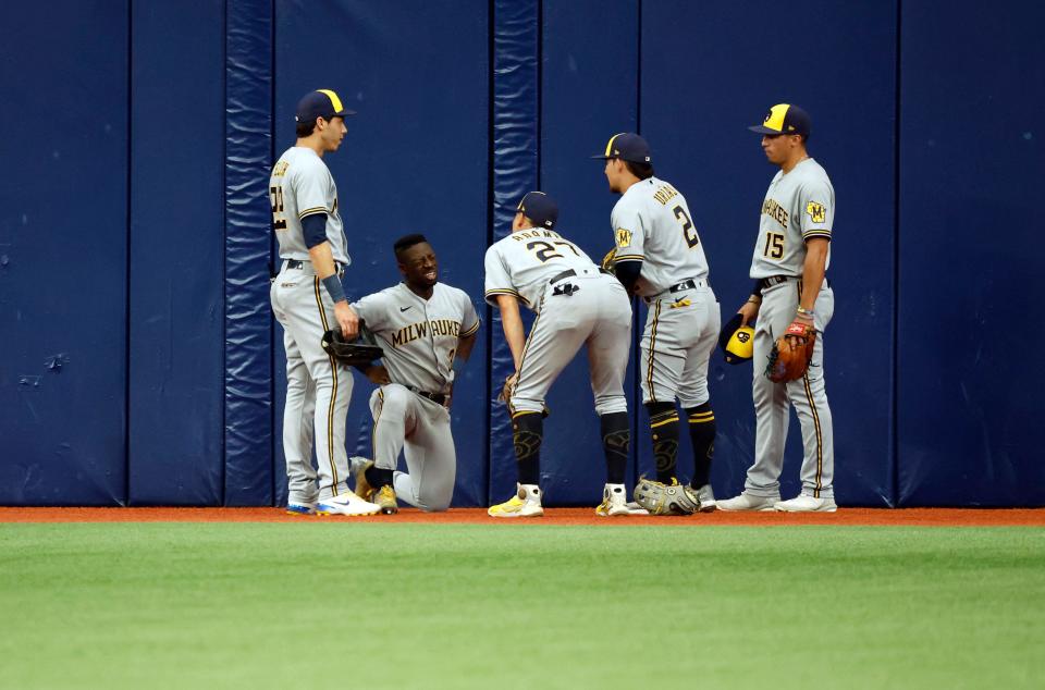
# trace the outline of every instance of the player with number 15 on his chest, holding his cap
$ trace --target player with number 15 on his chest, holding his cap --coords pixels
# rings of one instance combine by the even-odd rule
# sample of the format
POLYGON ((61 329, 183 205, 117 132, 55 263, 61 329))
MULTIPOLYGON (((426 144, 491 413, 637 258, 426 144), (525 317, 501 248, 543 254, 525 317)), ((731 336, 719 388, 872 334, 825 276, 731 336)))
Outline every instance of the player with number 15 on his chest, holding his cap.
POLYGON ((824 278, 831 259, 835 190, 827 173, 809 157, 809 115, 797 106, 774 106, 762 125, 766 159, 779 167, 762 201, 759 237, 751 260, 754 288, 740 307, 754 330, 754 465, 743 493, 720 502, 725 510, 825 512, 834 500, 834 433, 824 389, 824 329, 835 311, 835 296, 824 278), (774 383, 763 374, 773 343, 790 324, 817 331, 806 375, 774 383), (802 427, 801 493, 780 501, 780 469, 787 438, 788 404, 802 427))

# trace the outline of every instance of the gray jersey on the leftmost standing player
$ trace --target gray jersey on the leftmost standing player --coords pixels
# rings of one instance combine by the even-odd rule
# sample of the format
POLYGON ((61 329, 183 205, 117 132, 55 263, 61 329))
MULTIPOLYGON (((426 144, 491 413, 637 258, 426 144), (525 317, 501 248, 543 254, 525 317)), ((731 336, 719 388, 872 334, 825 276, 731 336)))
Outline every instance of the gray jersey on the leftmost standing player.
POLYGON ((272 167, 269 200, 281 259, 308 261, 302 219, 312 213, 327 213, 327 239, 334 261, 348 266, 348 243, 337 212, 337 186, 316 151, 305 146, 292 146, 283 152, 272 167))

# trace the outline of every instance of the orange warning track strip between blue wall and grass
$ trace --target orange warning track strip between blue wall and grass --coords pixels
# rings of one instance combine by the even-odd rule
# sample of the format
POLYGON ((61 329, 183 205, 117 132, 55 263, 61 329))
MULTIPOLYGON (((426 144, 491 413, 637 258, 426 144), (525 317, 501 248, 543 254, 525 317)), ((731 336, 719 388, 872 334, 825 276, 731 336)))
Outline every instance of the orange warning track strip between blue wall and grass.
POLYGON ((0 522, 427 522, 431 525, 865 525, 894 527, 1045 527, 1045 508, 839 508, 837 513, 716 513, 688 517, 600 518, 592 508, 548 508, 542 518, 504 520, 484 508, 446 513, 403 509, 398 515, 346 518, 287 515, 282 508, 20 508, 0 507, 0 522))

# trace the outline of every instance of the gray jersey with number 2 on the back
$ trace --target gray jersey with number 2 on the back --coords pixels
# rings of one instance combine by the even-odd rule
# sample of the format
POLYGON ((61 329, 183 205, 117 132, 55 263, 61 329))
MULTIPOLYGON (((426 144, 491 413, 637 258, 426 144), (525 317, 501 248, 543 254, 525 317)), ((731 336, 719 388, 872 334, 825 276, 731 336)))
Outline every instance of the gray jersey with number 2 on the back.
POLYGON ((708 276, 708 259, 686 198, 656 177, 628 187, 611 214, 617 261, 642 260, 637 294, 659 295, 688 279, 708 276))

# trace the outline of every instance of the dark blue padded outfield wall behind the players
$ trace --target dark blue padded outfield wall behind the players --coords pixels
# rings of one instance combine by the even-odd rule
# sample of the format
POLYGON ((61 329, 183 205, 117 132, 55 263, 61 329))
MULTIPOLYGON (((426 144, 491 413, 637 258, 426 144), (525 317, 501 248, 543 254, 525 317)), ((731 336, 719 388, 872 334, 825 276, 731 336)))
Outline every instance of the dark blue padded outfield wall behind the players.
MULTIPOLYGON (((838 502, 1045 505, 1032 359, 1045 10, 1003 4, 796 0, 787 19, 764 0, 7 8, 20 28, 0 46, 0 505, 285 501, 267 186, 314 88, 359 112, 325 159, 348 294, 394 284, 392 243, 422 232, 483 317, 455 391, 455 505, 514 488, 494 401, 511 354, 482 258, 521 195, 555 196, 558 230, 600 258, 616 197, 589 157, 642 133, 687 196, 725 320, 775 172, 746 127, 776 102, 810 111, 838 200, 825 334, 838 502)), ((637 304, 637 332, 644 319, 637 304)), ((629 483, 652 471, 636 345, 629 483)), ((728 496, 753 452, 752 366, 716 356, 709 375, 712 481, 728 496)), ((370 453, 371 390, 356 375, 351 454, 370 453)), ((546 501, 593 506, 605 466, 583 355, 549 406, 546 501)))

